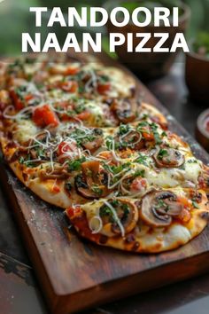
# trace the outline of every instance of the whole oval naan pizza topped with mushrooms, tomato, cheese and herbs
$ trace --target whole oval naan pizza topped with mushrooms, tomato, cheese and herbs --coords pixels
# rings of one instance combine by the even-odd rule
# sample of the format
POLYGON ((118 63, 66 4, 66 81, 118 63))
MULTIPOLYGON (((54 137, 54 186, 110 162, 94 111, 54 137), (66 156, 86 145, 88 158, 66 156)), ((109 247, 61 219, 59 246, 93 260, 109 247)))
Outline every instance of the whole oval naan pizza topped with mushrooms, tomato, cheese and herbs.
POLYGON ((209 170, 134 79, 78 59, 0 67, 5 159, 43 200, 68 208, 82 236, 157 252, 203 230, 209 170))

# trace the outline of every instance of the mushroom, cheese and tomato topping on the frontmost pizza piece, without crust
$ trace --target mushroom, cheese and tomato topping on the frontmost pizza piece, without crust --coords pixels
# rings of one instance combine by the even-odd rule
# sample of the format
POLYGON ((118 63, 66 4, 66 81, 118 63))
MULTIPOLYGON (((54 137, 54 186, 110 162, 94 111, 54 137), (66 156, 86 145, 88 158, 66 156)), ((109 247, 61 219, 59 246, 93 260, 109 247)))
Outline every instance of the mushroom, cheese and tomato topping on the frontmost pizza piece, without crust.
MULTIPOLYGON (((197 192, 196 195, 199 204, 205 196, 203 192, 197 192)), ((127 234, 135 237, 136 234, 142 235, 148 231, 151 234, 154 230, 166 232, 166 228, 173 224, 190 224, 197 206, 194 197, 193 190, 153 190, 143 196, 142 201, 127 198, 93 201, 82 205, 80 213, 85 213, 84 219, 87 219, 93 234, 111 238, 120 235, 126 241, 124 237, 127 234)), ((67 209, 67 215, 73 222, 75 213, 77 216, 77 208, 69 208, 69 212, 67 209)))

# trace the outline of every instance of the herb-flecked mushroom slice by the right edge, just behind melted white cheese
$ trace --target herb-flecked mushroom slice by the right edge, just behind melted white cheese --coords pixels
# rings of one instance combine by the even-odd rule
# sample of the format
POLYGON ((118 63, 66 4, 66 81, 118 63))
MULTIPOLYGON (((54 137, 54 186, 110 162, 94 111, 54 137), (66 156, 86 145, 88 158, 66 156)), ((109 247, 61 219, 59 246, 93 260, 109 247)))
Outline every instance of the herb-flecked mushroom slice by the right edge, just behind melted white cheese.
POLYGON ((174 148, 160 148, 153 155, 154 160, 160 168, 177 168, 182 166, 185 161, 184 155, 174 148))

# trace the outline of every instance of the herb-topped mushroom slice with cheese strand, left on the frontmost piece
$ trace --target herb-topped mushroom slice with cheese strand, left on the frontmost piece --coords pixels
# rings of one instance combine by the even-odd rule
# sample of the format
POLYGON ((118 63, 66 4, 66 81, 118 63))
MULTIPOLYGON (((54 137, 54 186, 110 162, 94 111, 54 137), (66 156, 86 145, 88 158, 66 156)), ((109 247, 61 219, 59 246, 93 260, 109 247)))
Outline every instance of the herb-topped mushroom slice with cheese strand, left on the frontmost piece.
POLYGON ((131 232, 138 221, 138 209, 129 200, 109 200, 99 208, 104 229, 123 236, 131 232))

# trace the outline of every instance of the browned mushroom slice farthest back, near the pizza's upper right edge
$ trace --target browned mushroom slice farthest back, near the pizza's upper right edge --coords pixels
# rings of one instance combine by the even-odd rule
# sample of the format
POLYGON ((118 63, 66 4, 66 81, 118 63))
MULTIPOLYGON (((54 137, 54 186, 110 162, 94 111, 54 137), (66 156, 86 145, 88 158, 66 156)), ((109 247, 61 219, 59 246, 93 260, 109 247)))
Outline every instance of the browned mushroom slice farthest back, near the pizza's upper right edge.
POLYGON ((113 100, 111 109, 116 115, 117 119, 122 123, 129 123, 135 121, 137 117, 139 104, 133 98, 125 98, 121 101, 113 100))

